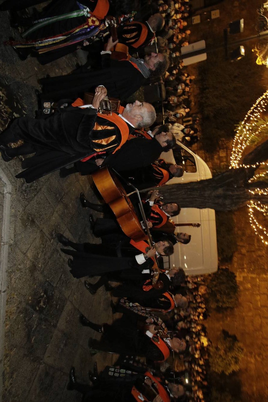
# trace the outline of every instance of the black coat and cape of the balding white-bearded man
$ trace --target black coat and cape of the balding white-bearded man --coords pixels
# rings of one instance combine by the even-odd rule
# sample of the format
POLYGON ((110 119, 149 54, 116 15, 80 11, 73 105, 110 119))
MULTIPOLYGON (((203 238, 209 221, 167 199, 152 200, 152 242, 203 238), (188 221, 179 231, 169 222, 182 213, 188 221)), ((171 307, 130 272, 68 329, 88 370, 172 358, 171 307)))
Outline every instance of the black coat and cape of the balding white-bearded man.
MULTIPOLYGON (((109 144, 113 147, 107 152, 113 152, 121 141, 121 133, 117 126, 112 130, 94 130, 96 121, 100 125, 113 126, 113 123, 104 117, 98 117, 96 109, 92 108, 63 109, 61 114, 55 114, 45 120, 21 119, 12 123, 16 126, 16 135, 34 144, 37 151, 35 156, 25 159, 22 163, 23 169, 26 170, 16 175, 17 178, 25 178, 27 183, 92 154, 96 147, 94 139, 115 135, 115 139, 109 144), (20 127, 20 123, 23 123, 24 127, 20 127)), ((128 126, 129 132, 133 131, 133 127, 128 126)), ((101 147, 98 144, 98 148, 101 147)))

